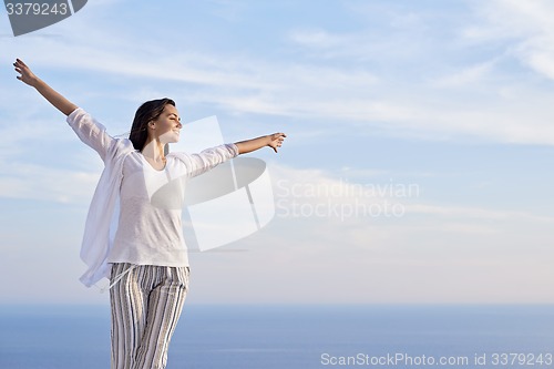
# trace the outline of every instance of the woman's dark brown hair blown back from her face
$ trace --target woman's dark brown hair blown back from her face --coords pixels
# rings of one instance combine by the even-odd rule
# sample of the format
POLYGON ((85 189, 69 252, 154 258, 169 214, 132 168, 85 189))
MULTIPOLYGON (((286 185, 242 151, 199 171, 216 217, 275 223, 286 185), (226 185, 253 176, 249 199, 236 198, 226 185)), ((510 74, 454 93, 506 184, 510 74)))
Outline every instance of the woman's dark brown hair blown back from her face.
POLYGON ((131 133, 129 134, 129 140, 133 143, 135 150, 142 151, 144 148, 148 137, 148 123, 157 120, 167 104, 175 106, 173 100, 164 98, 146 101, 136 110, 131 133))

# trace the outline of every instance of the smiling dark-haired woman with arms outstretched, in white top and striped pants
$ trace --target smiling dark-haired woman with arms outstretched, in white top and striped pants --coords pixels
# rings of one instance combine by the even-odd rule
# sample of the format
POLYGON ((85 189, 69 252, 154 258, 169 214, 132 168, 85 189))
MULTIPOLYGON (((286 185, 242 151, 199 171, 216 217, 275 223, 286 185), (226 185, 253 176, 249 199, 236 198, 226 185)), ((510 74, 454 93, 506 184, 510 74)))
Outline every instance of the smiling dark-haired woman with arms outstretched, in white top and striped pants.
POLYGON ((170 184, 264 146, 277 152, 286 135, 274 133, 199 154, 166 155, 165 145, 178 141, 182 127, 172 100, 142 104, 129 140, 114 139, 84 110, 34 75, 23 61, 17 59, 13 65, 17 78, 65 114, 81 141, 94 148, 105 165, 86 217, 81 257, 89 269, 81 281, 91 286, 110 278, 112 368, 165 368, 189 273, 182 212, 174 201, 182 199, 182 187, 170 184), (162 205, 152 201, 161 189, 170 199, 162 205), (116 232, 111 237, 111 218, 117 209, 116 232))

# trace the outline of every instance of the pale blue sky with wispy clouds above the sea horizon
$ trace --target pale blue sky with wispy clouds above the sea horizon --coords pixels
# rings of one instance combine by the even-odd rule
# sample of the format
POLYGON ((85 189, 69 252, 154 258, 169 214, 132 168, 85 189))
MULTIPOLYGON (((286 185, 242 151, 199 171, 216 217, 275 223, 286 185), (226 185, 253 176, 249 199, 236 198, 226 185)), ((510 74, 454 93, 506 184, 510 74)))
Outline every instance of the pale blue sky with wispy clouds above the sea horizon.
POLYGON ((98 0, 13 38, 2 11, 0 270, 17 283, 0 303, 106 299, 78 281, 102 163, 16 58, 112 134, 161 96, 186 122, 217 115, 229 142, 287 133, 279 154, 250 154, 276 217, 191 255, 191 304, 554 303, 553 16, 550 1, 98 0))

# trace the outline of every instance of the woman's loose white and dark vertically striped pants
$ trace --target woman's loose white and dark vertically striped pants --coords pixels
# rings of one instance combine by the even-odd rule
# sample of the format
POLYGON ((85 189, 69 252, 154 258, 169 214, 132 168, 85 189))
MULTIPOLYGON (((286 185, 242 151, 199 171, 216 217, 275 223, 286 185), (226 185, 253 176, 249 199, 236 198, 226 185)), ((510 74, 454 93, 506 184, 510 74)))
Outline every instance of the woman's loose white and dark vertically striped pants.
POLYGON ((112 369, 165 368, 188 273, 188 267, 112 265, 111 280, 121 278, 110 289, 112 369))

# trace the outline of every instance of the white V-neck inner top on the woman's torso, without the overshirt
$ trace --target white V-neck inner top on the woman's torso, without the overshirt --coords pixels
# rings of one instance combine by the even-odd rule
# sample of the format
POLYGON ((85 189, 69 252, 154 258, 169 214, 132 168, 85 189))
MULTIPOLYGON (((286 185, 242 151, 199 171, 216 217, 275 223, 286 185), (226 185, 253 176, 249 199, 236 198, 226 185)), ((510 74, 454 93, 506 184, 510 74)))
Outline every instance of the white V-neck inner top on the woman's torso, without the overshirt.
POLYGON ((107 263, 188 266, 183 237, 183 163, 168 157, 156 171, 138 152, 123 162, 120 219, 107 263))

